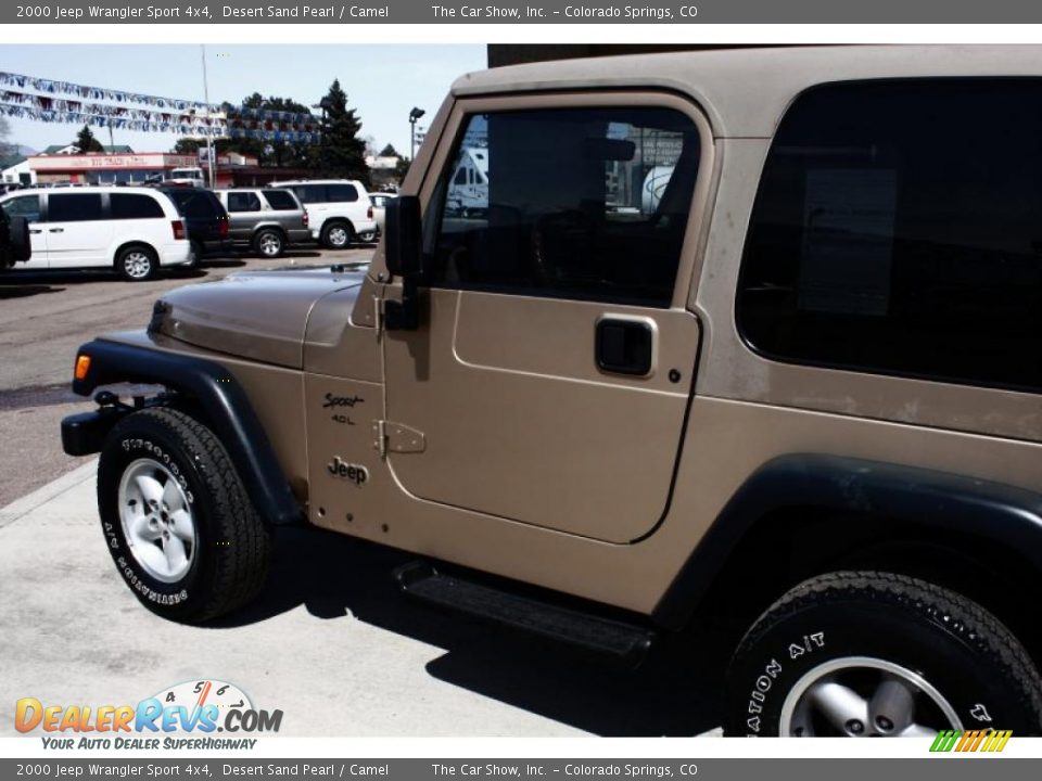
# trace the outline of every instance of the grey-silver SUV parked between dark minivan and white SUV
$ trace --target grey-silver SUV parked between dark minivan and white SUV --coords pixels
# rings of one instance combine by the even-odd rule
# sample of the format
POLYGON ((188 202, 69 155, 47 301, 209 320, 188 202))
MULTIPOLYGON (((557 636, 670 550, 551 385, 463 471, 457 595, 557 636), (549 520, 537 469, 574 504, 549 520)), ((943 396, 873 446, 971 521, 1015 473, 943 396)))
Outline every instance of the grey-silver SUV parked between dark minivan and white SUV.
POLYGON ((228 212, 228 233, 262 257, 278 257, 290 244, 312 241, 308 216, 292 190, 236 188, 218 190, 228 212))

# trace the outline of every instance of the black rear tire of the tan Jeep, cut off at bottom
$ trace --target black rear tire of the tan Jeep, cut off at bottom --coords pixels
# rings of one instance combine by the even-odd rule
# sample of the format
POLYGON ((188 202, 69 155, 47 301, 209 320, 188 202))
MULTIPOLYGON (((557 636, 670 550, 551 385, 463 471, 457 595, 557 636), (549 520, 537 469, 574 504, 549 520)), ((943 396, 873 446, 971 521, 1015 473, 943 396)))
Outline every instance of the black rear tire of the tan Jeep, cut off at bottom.
POLYGON ((995 616, 954 591, 878 572, 806 580, 753 624, 727 671, 725 734, 879 734, 874 717, 859 725, 859 719, 819 716, 813 708, 823 690, 816 700, 811 690, 815 681, 843 682, 854 691, 863 682, 865 689, 857 693, 871 703, 879 681, 892 680, 893 670, 899 679, 907 671, 911 679, 929 684, 905 686, 915 692, 913 725, 1042 734, 1042 680, 1024 646, 995 616), (946 712, 931 699, 935 694, 946 712), (808 719, 793 713, 811 714, 817 727, 804 728, 808 719), (956 724, 939 717, 943 713, 956 724))

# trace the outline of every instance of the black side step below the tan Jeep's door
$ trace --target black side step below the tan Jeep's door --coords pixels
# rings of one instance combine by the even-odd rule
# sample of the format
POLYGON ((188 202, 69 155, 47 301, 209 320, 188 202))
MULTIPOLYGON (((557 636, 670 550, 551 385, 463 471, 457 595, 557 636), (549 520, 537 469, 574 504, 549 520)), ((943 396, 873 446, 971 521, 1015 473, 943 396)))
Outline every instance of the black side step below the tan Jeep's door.
POLYGON ((443 575, 427 562, 405 564, 394 577, 404 593, 423 602, 608 654, 632 667, 644 661, 656 637, 643 627, 443 575))

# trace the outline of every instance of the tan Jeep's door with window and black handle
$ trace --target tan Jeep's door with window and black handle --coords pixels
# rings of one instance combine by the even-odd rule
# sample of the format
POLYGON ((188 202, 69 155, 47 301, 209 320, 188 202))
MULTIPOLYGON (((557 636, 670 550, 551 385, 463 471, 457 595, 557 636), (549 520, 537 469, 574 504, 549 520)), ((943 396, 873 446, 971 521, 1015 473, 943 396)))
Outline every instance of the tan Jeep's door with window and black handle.
POLYGON ((694 387, 711 139, 670 95, 504 103, 457 106, 424 183, 424 315, 384 338, 389 421, 418 436, 389 463, 432 502, 631 542, 669 505, 694 387))

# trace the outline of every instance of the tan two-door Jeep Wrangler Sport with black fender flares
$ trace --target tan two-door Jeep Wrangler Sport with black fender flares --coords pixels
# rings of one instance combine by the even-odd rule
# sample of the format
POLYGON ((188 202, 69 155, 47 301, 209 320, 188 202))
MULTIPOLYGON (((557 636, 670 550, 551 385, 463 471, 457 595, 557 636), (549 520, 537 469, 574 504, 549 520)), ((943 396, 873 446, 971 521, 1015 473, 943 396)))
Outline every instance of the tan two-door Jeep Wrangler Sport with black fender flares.
POLYGON ((166 388, 62 431, 145 606, 239 607, 303 522, 626 662, 711 604, 728 734, 1042 732, 1042 50, 471 74, 405 193, 368 268, 80 348, 166 388))

